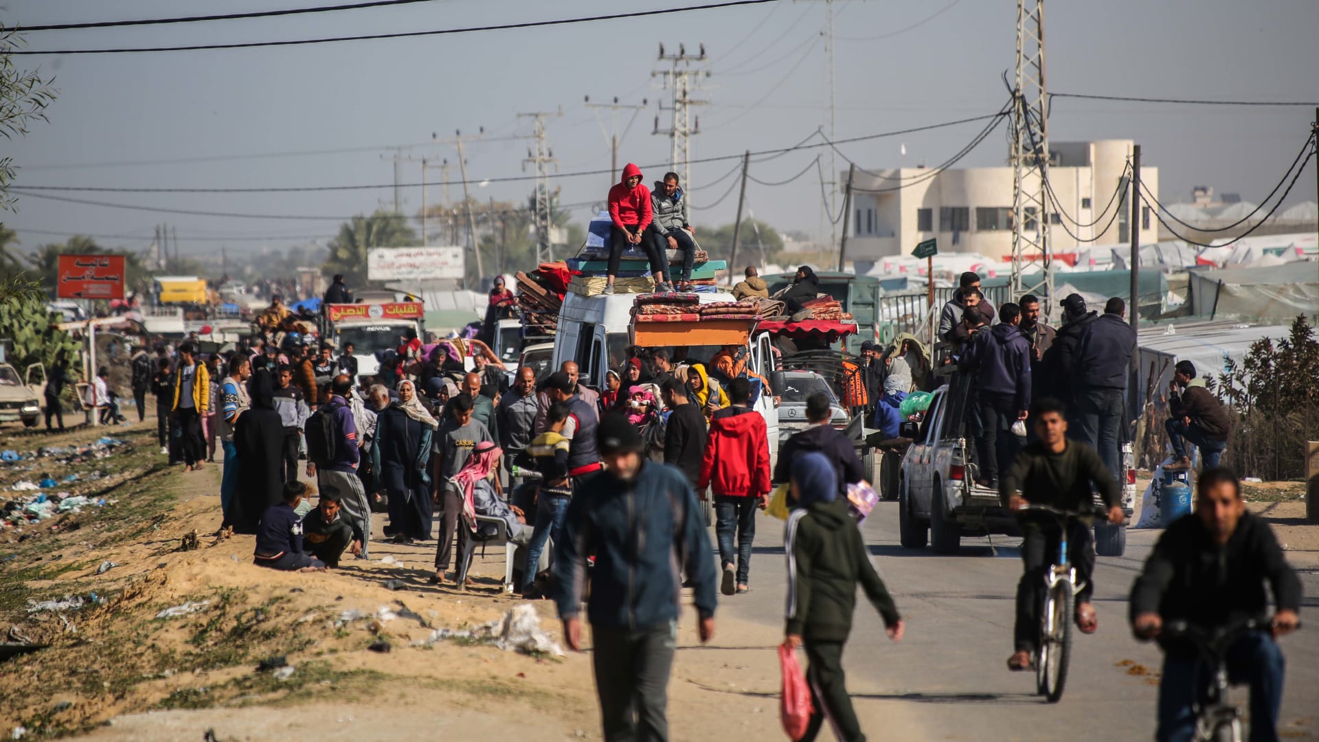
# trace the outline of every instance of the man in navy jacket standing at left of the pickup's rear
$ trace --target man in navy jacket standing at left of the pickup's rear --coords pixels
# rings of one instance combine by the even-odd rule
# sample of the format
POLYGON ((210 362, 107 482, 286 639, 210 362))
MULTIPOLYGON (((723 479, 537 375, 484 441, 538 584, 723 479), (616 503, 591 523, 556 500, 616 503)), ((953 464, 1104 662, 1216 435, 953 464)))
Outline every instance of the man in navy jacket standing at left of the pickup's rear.
POLYGON ((976 438, 980 485, 995 487, 998 473, 1017 458, 1012 424, 1030 409, 1030 341, 1021 331, 1021 308, 1006 302, 998 323, 971 339, 962 367, 975 374, 980 436, 976 438))

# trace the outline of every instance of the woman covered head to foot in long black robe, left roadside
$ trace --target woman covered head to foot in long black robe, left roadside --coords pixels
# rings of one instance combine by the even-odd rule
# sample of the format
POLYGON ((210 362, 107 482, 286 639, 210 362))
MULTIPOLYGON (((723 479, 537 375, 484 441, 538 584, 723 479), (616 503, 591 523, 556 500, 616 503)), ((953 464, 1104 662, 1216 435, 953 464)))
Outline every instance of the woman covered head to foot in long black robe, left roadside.
POLYGON ((284 422, 274 409, 274 380, 269 368, 248 379, 252 407, 233 425, 239 479, 224 520, 235 533, 256 533, 266 508, 284 502, 284 422))

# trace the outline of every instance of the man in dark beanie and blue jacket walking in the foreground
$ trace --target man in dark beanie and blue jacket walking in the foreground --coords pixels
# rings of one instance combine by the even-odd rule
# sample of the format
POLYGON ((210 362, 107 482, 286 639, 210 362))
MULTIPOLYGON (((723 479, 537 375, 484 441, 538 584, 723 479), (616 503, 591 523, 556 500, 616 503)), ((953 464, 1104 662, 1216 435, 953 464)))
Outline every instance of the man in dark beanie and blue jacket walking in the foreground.
POLYGON ((572 496, 555 544, 563 636, 582 650, 586 564, 595 555, 591 621, 596 694, 607 742, 669 738, 665 706, 678 636, 682 573, 695 586, 700 640, 715 634, 716 570, 687 477, 642 455, 641 434, 607 415, 596 442, 608 469, 572 496))

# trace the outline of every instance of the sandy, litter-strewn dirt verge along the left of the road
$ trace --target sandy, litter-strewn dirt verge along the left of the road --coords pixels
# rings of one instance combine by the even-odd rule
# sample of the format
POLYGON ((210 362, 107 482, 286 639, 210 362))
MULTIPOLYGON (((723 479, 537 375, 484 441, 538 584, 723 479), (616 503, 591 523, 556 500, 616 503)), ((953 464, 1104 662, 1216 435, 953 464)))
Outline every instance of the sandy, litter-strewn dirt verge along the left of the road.
MULTIPOLYGON (((467 642, 413 646, 434 628, 470 628, 521 603, 496 589, 501 549, 477 557, 480 586, 468 591, 426 584, 434 547, 377 541, 372 560, 350 558, 319 574, 257 568, 252 537, 208 536, 219 520, 219 467, 187 474, 164 467, 150 428, 116 428, 123 449, 71 465, 125 471, 106 495, 113 504, 0 529, 0 631, 13 627, 18 636, 50 644, 0 663, 0 731, 21 726, 24 738, 133 741, 200 739, 207 730, 244 741, 398 739, 435 731, 600 738, 588 652, 553 658, 467 642), (194 532, 197 548, 186 548, 194 532), (103 561, 116 566, 98 573, 103 561), (390 589, 390 581, 401 586, 390 589), (104 602, 26 610, 28 601, 92 593, 104 602), (157 618, 189 601, 208 605, 157 618), (379 618, 381 607, 396 617, 379 618), (346 611, 364 618, 344 621, 346 611), (368 648, 381 642, 388 652, 368 648), (293 667, 284 680, 256 669, 277 655, 293 667)), ((80 445, 104 432, 59 440, 80 445)), ((0 438, 0 448, 37 445, 46 441, 0 438)), ((45 459, 42 469, 57 481, 66 477, 45 459)), ((377 537, 383 524, 377 518, 377 537)), ((536 610, 558 639, 551 603, 536 610)), ((689 609, 669 689, 671 737, 782 734, 780 632, 721 619, 715 640, 702 647, 692 624, 689 609)), ((857 710, 872 729, 919 737, 915 720, 881 702, 859 701, 857 710)))

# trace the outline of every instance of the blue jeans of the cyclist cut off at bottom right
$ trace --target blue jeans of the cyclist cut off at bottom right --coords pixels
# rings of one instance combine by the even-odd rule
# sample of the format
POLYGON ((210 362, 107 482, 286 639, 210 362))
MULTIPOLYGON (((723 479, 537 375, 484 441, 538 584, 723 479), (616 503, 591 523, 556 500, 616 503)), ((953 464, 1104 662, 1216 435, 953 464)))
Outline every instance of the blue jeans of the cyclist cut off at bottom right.
MULTIPOLYGON (((1285 661, 1278 644, 1264 632, 1248 634, 1228 650, 1228 679, 1250 685, 1250 742, 1278 739, 1285 661)), ((1213 671, 1198 655, 1169 652, 1158 685, 1159 742, 1190 742, 1195 737, 1196 698, 1204 698, 1213 671)))

